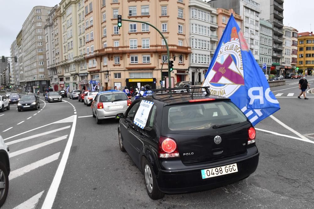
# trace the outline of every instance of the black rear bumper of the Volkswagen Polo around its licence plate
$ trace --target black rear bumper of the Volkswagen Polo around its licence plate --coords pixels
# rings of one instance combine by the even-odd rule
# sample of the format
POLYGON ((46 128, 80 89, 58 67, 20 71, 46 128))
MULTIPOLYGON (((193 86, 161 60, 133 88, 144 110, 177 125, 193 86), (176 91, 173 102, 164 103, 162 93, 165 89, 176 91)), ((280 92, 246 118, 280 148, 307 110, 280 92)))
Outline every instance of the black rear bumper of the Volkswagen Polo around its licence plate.
POLYGON ((185 168, 182 167, 180 170, 159 169, 157 182, 160 191, 169 194, 209 190, 228 185, 248 177, 256 170, 258 159, 259 153, 257 151, 255 154, 242 157, 241 159, 235 158, 234 160, 219 162, 214 165, 199 165, 199 167, 193 169, 190 169, 189 166, 186 165, 184 165, 185 168), (238 172, 202 179, 202 169, 215 168, 234 163, 237 164, 238 172))

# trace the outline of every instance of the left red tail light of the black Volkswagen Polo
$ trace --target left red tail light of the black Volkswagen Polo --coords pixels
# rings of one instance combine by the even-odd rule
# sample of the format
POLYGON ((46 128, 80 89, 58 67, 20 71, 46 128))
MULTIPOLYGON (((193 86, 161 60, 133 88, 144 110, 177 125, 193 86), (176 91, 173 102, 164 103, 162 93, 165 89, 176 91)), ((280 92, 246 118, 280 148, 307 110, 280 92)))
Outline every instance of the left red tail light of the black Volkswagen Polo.
POLYGON ((179 157, 179 150, 173 138, 160 136, 158 154, 160 158, 179 157))

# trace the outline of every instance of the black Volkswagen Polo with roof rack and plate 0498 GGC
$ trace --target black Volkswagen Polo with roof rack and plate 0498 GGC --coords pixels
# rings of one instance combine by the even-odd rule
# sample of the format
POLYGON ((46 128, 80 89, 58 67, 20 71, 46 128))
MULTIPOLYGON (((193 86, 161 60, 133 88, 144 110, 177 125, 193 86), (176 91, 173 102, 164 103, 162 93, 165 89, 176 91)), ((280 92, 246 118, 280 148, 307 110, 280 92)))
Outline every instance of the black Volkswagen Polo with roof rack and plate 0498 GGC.
POLYGON ((227 185, 257 168, 259 152, 251 122, 230 99, 210 96, 208 90, 155 91, 116 118, 120 149, 143 172, 154 200, 165 193, 227 185))

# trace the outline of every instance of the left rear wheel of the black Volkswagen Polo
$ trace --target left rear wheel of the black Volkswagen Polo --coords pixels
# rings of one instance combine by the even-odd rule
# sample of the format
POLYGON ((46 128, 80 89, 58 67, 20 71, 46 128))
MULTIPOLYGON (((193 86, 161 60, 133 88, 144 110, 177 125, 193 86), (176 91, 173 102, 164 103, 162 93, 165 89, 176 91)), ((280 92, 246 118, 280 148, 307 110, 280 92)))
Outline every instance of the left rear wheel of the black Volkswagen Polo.
POLYGON ((148 196, 153 200, 159 200, 163 198, 165 193, 159 190, 154 170, 146 158, 143 158, 142 161, 142 171, 144 174, 145 187, 148 196))

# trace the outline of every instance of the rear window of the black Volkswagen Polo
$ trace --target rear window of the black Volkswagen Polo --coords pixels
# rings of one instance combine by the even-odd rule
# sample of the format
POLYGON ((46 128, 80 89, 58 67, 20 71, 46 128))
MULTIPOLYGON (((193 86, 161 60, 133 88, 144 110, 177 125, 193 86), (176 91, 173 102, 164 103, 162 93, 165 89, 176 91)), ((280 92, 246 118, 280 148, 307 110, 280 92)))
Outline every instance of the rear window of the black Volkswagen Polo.
POLYGON ((245 115, 232 102, 168 106, 164 117, 165 123, 162 126, 168 131, 216 129, 217 126, 247 121, 245 115))

